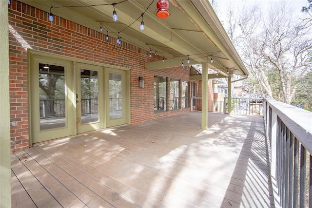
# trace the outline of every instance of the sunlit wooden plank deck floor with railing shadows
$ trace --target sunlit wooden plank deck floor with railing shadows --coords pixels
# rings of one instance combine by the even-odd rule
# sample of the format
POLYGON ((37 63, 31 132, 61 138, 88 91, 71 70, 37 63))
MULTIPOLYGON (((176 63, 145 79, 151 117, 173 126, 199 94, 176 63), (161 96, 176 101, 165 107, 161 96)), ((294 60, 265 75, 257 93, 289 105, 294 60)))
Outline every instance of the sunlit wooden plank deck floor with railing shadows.
POLYGON ((13 208, 268 208, 263 117, 192 112, 12 153, 13 208))

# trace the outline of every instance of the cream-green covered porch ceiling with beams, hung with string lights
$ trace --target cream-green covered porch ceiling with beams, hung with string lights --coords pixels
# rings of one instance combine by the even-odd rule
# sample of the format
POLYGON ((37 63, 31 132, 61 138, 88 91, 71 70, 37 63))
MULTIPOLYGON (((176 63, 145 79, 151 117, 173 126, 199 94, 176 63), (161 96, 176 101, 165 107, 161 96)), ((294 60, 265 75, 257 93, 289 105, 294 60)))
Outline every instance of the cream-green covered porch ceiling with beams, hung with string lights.
POLYGON ((146 63, 146 70, 200 64, 223 76, 248 72, 208 0, 169 0, 171 15, 155 15, 157 0, 20 0, 43 11, 165 57, 146 63), (117 11, 118 20, 112 14, 117 11), (103 5, 107 4, 107 5, 103 5), (97 5, 97 6, 92 6, 97 5), (143 14, 144 30, 139 29, 143 14), (187 63, 188 57, 191 62, 187 63), (211 63, 211 57, 214 62, 211 63), (229 74, 227 74, 229 71, 229 74))

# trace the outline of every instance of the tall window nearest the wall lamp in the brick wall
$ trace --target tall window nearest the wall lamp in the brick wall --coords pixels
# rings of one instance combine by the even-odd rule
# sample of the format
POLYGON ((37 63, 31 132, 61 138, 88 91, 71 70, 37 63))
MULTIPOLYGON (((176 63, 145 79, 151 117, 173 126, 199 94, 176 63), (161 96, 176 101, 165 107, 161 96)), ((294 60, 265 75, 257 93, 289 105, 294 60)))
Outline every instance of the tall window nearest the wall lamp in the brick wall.
POLYGON ((167 78, 154 76, 154 112, 166 111, 167 78))

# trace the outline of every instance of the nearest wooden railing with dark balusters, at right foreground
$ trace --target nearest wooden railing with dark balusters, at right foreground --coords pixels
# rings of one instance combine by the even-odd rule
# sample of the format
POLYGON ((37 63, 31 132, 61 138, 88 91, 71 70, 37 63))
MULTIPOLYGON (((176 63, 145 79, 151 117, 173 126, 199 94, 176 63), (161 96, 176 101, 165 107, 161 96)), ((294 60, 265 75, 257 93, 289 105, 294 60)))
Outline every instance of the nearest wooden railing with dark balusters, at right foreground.
POLYGON ((275 205, 312 207, 312 112, 264 99, 275 205))

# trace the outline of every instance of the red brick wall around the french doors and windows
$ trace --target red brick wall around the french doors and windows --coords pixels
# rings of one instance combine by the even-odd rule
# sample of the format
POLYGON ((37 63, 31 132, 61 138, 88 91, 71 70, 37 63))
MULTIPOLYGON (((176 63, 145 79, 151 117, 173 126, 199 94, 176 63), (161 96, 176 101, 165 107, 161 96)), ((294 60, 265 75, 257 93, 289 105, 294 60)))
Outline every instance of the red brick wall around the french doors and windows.
POLYGON ((150 58, 149 50, 121 42, 116 38, 106 41, 105 34, 86 28, 66 19, 54 17, 48 21, 48 13, 16 0, 9 5, 10 48, 10 114, 11 151, 29 147, 27 50, 29 48, 65 57, 125 67, 130 70, 131 123, 139 123, 182 113, 188 110, 167 111, 154 114, 154 75, 189 81, 186 68, 145 71, 145 62, 161 60, 150 58), (145 79, 145 88, 138 88, 138 77, 145 79))

